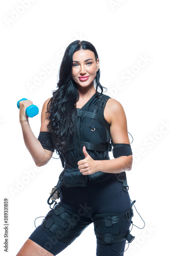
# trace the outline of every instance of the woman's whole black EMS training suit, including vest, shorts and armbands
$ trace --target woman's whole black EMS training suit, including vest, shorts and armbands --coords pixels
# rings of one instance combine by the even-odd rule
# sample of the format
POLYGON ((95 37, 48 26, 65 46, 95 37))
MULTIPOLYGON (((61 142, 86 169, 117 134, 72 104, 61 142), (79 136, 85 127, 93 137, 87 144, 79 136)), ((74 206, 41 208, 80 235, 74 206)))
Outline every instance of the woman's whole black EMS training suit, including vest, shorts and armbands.
MULTIPOLYGON (((40 132, 38 137, 46 150, 57 149, 64 170, 58 182, 59 203, 48 212, 29 239, 54 255, 71 244, 92 222, 98 256, 123 255, 126 240, 131 242, 134 238, 129 232, 133 210, 126 173, 82 175, 77 165, 85 158, 83 146, 92 159, 109 159, 108 153, 112 150, 110 124, 104 118, 109 98, 96 92, 77 109, 75 135, 66 146, 55 146, 51 133, 40 132)), ((113 145, 115 158, 129 155, 132 155, 129 144, 113 145)), ((88 244, 88 238, 85 243, 88 244)))

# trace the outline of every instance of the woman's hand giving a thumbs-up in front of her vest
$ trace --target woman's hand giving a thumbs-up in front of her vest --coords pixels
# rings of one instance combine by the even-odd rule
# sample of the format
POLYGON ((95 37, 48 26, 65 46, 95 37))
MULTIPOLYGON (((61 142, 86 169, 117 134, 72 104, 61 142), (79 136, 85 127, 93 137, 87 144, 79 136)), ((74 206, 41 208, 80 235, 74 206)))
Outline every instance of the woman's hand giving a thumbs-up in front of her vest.
POLYGON ((85 159, 78 162, 79 170, 83 175, 94 174, 98 172, 97 161, 93 160, 86 151, 86 147, 83 147, 83 154, 85 159))

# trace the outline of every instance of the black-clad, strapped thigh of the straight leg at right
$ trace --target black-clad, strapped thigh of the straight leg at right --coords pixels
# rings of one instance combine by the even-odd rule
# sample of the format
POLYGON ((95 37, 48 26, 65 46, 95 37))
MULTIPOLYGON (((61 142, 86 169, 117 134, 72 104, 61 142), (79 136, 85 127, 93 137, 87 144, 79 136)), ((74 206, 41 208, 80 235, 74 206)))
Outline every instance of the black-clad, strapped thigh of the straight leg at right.
POLYGON ((123 256, 126 240, 129 240, 131 210, 124 214, 99 214, 92 220, 97 239, 97 256, 123 256))

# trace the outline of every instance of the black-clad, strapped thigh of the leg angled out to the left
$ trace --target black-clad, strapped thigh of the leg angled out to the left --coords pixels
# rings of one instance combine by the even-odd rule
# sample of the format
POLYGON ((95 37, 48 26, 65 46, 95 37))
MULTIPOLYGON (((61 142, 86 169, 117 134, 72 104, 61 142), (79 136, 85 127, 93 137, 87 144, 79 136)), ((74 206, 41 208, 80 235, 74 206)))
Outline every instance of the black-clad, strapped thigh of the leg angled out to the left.
POLYGON ((29 237, 48 252, 57 255, 92 223, 57 204, 29 237))

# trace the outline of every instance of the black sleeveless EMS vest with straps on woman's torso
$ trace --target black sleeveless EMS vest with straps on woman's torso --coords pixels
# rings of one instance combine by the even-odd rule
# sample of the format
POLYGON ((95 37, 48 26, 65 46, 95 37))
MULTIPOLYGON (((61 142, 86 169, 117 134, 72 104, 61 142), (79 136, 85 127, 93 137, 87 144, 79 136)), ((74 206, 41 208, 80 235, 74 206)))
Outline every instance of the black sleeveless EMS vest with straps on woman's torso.
POLYGON ((77 109, 72 142, 57 148, 64 167, 59 179, 63 179, 67 187, 86 186, 115 175, 104 172, 82 175, 77 165, 79 160, 85 158, 83 146, 86 146, 87 153, 94 160, 110 159, 108 154, 112 150, 110 124, 104 118, 104 109, 109 98, 96 92, 81 109, 77 109))

